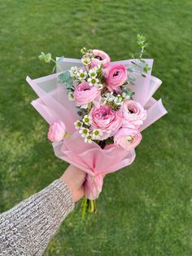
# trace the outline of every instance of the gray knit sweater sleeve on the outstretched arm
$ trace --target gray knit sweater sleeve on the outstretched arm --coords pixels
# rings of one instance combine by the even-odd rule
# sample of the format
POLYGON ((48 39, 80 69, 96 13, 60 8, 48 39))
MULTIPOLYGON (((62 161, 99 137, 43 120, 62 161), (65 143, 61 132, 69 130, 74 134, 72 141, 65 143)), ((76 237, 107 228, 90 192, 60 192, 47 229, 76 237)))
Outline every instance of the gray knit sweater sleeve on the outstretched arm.
POLYGON ((68 186, 57 179, 0 215, 0 255, 42 255, 74 208, 68 186))

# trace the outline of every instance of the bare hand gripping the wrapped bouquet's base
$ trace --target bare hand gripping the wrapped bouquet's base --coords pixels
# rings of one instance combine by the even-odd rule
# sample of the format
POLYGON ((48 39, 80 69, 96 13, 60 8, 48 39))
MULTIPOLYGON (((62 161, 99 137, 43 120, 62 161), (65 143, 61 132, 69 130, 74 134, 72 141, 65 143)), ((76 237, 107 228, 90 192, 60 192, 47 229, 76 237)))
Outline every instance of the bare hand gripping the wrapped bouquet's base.
POLYGON ((84 196, 83 183, 85 182, 85 176, 86 174, 83 170, 70 165, 60 178, 71 190, 74 202, 80 200, 81 197, 84 196))

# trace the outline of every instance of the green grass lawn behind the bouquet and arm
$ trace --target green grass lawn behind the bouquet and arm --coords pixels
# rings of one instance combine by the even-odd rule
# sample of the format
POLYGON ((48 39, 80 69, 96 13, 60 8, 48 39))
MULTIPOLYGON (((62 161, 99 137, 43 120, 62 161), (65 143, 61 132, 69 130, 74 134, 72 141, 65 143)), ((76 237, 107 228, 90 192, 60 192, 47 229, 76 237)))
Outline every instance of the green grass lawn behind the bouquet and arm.
POLYGON ((112 60, 129 58, 137 33, 151 42, 155 97, 168 115, 143 132, 137 159, 105 179, 98 216, 81 221, 79 205, 45 255, 192 255, 192 2, 0 0, 0 209, 45 188, 67 166, 46 140, 47 124, 30 105, 25 77, 50 65, 41 51, 79 57, 82 46, 112 60))

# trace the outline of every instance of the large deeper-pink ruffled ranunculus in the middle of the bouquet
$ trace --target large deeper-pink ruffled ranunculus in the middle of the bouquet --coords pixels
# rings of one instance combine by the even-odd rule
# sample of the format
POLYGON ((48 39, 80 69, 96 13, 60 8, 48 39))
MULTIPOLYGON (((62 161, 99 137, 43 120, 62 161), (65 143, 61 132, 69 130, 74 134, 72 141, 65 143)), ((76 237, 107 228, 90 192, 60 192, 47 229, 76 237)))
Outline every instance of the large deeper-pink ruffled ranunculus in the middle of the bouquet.
POLYGON ((112 110, 108 105, 102 105, 99 108, 94 107, 89 114, 92 117, 92 127, 103 131, 101 139, 107 139, 114 135, 122 124, 121 113, 112 110))

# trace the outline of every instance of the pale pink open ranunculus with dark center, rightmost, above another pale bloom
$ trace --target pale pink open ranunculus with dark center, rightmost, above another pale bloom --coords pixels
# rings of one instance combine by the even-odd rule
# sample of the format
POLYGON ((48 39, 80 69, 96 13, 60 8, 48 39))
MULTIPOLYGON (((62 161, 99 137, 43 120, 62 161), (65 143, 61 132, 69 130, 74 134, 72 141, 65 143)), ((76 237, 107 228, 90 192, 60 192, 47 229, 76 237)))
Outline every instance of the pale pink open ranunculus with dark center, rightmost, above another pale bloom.
POLYGON ((124 117, 124 126, 133 125, 138 128, 146 120, 146 110, 135 100, 125 100, 121 110, 124 117))

